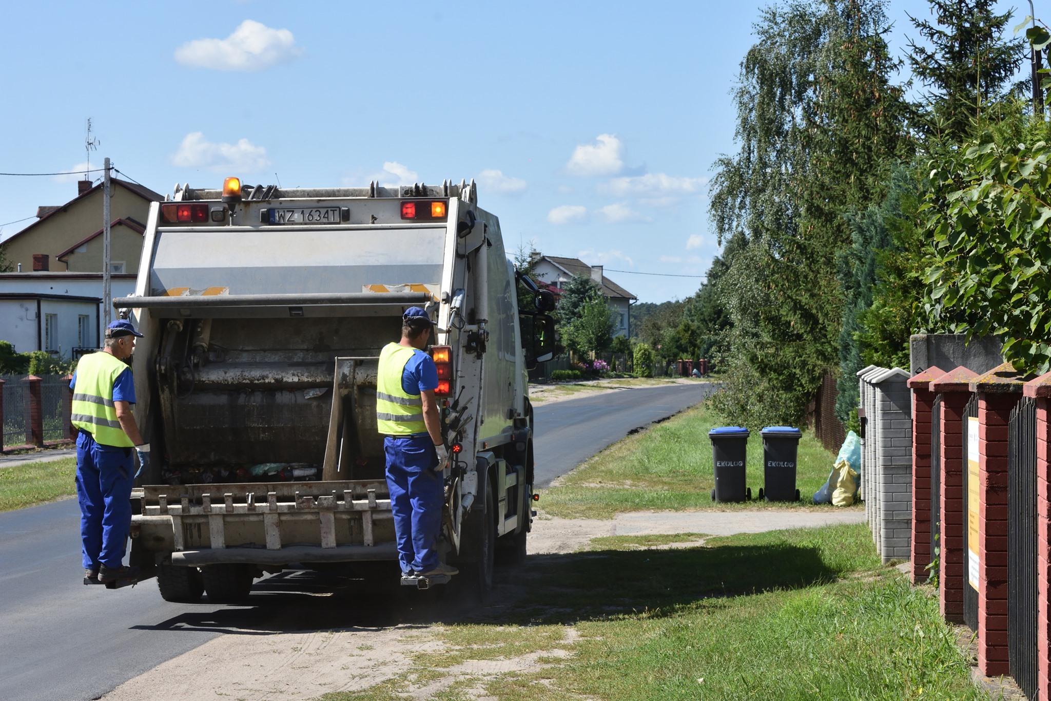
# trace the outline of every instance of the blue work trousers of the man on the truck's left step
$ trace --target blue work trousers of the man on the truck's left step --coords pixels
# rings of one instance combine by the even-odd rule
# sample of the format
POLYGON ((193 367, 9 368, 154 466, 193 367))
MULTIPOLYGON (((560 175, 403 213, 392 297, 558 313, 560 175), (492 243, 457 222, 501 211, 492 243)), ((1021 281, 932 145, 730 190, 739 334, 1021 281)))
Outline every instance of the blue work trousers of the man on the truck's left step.
POLYGON ((131 532, 130 448, 103 446, 90 433, 77 436, 77 500, 84 569, 120 568, 131 532))

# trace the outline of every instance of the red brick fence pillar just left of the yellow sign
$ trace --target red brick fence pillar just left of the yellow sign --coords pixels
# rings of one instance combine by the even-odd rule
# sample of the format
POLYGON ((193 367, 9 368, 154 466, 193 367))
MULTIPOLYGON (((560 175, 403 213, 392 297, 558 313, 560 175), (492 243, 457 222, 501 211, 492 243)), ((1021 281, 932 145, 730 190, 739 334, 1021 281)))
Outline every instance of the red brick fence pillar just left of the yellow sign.
POLYGON ((964 410, 977 373, 960 366, 930 383, 942 395, 942 537, 939 556, 939 603, 950 623, 964 622, 964 410))

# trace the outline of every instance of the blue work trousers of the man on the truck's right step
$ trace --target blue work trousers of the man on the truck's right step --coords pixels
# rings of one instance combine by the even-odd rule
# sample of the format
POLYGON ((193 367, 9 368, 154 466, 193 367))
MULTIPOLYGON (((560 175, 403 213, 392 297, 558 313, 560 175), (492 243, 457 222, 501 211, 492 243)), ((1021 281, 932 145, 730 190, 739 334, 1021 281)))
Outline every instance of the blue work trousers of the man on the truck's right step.
POLYGON ((431 436, 386 436, 387 488, 401 574, 430 572, 438 564, 444 481, 431 436))

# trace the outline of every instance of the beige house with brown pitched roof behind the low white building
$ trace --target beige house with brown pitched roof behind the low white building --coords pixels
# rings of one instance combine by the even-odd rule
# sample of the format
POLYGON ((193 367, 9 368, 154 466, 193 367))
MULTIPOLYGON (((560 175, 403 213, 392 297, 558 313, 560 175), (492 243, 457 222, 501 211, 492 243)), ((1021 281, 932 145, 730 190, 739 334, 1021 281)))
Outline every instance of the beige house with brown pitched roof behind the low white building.
MULTIPOLYGON (((102 185, 77 184, 77 197, 37 209, 37 221, 0 243, 17 272, 102 272, 102 185)), ((150 202, 164 198, 123 180, 110 180, 110 272, 139 272, 150 202)), ((100 288, 101 294, 101 288, 100 288)))

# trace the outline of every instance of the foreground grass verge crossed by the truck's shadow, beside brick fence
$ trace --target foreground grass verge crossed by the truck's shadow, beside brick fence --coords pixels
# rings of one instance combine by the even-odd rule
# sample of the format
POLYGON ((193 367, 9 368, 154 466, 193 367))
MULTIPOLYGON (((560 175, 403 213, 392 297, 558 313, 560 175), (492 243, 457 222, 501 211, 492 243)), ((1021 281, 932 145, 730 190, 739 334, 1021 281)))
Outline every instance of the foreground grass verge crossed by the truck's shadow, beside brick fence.
POLYGON ((447 653, 323 699, 987 698, 864 524, 536 557, 515 579, 507 613, 442 630, 447 653))

